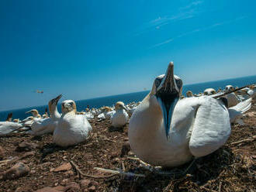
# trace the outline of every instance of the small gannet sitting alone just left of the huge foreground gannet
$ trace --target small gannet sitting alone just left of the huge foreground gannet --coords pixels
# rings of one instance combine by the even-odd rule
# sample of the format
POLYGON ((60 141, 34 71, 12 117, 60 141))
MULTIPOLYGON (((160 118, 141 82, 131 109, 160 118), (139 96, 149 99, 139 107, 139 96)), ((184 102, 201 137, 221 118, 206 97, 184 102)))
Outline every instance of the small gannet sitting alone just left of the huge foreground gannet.
POLYGON ((129 121, 129 115, 126 113, 127 109, 122 101, 116 102, 115 112, 110 118, 113 127, 123 127, 129 121))

